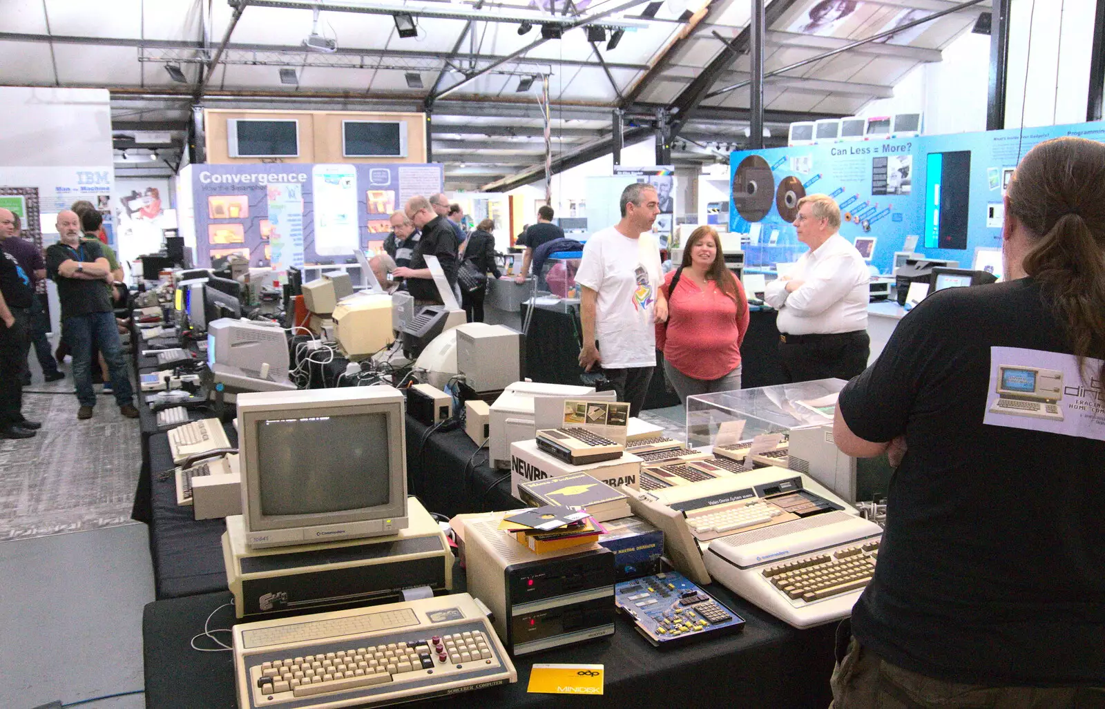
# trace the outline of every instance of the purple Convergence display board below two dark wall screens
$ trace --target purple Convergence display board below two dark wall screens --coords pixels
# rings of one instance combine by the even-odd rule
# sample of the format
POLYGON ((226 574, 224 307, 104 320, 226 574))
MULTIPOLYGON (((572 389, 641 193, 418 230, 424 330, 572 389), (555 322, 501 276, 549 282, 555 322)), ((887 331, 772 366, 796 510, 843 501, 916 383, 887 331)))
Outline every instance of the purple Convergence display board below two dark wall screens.
MULTIPOLYGON (((354 252, 381 241, 391 230, 388 218, 408 199, 442 191, 444 169, 391 163, 191 165, 180 181, 190 187, 178 193, 190 197, 194 211, 198 267, 220 267, 231 256, 266 266, 275 258, 274 233, 282 250, 293 244, 292 251, 282 251, 285 264, 355 263, 354 252), (280 192, 270 202, 273 186, 298 188, 298 236, 275 231, 270 207, 292 197, 280 192)), ((294 223, 294 211, 282 209, 280 216, 294 223)))

